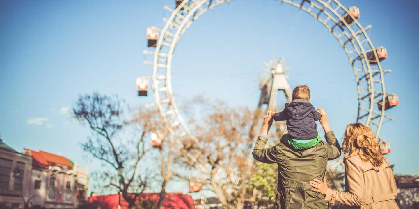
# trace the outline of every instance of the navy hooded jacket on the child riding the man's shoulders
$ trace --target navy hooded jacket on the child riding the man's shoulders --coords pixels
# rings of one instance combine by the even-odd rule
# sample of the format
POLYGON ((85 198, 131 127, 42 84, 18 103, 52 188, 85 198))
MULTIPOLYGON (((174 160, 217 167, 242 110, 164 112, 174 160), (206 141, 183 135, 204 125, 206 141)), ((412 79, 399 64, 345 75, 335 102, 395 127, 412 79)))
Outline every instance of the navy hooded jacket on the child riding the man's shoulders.
POLYGON ((272 115, 275 121, 287 120, 287 130, 293 139, 309 140, 317 137, 317 124, 321 115, 313 105, 305 99, 294 99, 285 104, 282 112, 272 115))

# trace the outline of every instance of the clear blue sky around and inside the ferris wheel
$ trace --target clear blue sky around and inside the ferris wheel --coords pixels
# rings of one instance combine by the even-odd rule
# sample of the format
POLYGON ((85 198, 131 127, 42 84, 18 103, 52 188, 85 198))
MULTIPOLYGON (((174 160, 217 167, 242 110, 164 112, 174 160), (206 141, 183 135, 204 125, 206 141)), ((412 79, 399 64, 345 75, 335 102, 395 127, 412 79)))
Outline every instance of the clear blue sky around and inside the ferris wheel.
MULTIPOLYGON (((374 45, 387 48, 381 64, 393 72, 385 86, 398 94, 400 105, 388 111, 395 120, 382 126, 380 137, 391 143, 387 157, 395 172, 416 173, 418 3, 341 2, 360 8, 358 20, 372 25, 374 45)), ((68 108, 79 94, 94 91, 118 94, 132 107, 153 102, 152 96, 137 97, 135 89, 136 77, 152 74, 142 64, 145 29, 162 28, 163 6, 174 0, 0 4, 1 138, 19 151, 41 149, 97 169, 100 162, 80 148, 88 127, 73 122, 68 108)), ((285 58, 291 87, 310 86, 313 105, 328 112, 336 135, 355 122, 356 83, 343 49, 310 15, 274 0, 231 1, 191 25, 174 54, 173 91, 179 102, 204 94, 254 108, 263 62, 274 57, 285 58)), ((171 191, 186 192, 176 186, 171 191)))

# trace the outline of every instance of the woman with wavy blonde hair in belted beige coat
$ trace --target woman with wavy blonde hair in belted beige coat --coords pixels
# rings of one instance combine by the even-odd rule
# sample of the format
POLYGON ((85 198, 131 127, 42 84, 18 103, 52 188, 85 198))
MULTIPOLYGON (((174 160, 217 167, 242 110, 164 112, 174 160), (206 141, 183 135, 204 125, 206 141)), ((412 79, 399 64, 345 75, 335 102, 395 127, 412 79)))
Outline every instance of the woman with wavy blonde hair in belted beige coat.
POLYGON ((328 188, 326 181, 310 181, 313 191, 326 201, 361 209, 397 209, 397 187, 390 164, 380 151, 372 130, 361 124, 346 128, 342 151, 345 164, 345 192, 328 188))

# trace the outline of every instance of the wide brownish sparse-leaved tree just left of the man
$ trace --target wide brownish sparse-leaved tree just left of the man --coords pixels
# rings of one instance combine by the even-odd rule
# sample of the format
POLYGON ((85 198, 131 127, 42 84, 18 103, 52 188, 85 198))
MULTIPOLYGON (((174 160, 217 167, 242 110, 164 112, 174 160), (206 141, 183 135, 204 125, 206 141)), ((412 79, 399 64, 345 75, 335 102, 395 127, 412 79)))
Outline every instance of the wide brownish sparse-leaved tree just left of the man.
POLYGON ((249 133, 255 113, 222 102, 196 101, 208 115, 191 120, 196 139, 184 140, 188 155, 183 155, 182 160, 198 173, 198 183, 217 194, 226 208, 243 208, 246 202, 256 200, 256 190, 248 186, 254 171, 250 156, 253 138, 249 133))

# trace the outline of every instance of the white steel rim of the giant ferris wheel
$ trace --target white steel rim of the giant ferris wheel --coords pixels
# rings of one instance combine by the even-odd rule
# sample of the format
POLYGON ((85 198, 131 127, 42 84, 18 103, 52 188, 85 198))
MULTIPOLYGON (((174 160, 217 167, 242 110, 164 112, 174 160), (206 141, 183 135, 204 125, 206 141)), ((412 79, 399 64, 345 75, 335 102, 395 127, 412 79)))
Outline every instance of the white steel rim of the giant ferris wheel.
MULTIPOLYGON (((166 10, 171 11, 171 15, 170 15, 169 19, 167 19, 167 21, 166 21, 167 23, 165 24, 164 28, 160 31, 160 37, 159 37, 159 39, 157 41, 157 46, 156 46, 156 49, 154 51, 153 76, 152 76, 152 79, 153 79, 153 89, 154 89, 155 104, 158 107, 158 109, 160 110, 160 114, 163 116, 164 121, 168 125, 170 133, 174 137, 176 137, 176 138, 179 136, 179 134, 178 133, 175 133, 175 130, 174 130, 173 127, 176 127, 177 128, 177 126, 181 125, 181 128, 183 128, 183 132, 181 130, 181 134, 180 135, 189 135, 192 139, 195 139, 194 135, 191 133, 191 131, 187 127, 186 123, 184 122, 181 114, 179 113, 178 107, 176 105, 175 97, 173 96, 173 89, 172 89, 172 85, 171 85, 171 61, 173 59, 173 52, 174 52, 174 49, 176 48, 176 45, 177 45, 178 41, 180 40, 181 36, 184 34, 184 32, 186 31, 186 29, 189 28, 189 26, 194 22, 194 20, 197 20, 197 18, 200 15, 204 14, 209 9, 212 9, 215 6, 220 5, 222 3, 229 2, 229 0, 215 0, 215 3, 208 4, 209 1, 210 0, 184 0, 174 10, 173 9, 170 9, 167 6, 165 6, 165 9, 166 10), (189 3, 189 5, 186 5, 186 3, 189 3), (204 5, 205 3, 207 3, 208 7, 203 9, 202 8, 202 5, 204 5), (190 8, 189 6, 191 6, 192 8, 190 8), (181 10, 186 11, 187 12, 187 15, 186 16, 183 16, 182 14, 180 14, 179 11, 181 11, 181 10), (197 13, 198 10, 199 10, 199 13, 197 13), (190 20, 190 18, 192 18, 192 20, 190 20), (179 22, 180 22, 180 24, 179 24, 179 22), (171 28, 171 27, 172 28, 173 27, 177 28, 176 29, 176 33, 173 34, 173 33, 170 33, 168 31, 168 29, 171 28), (169 33, 171 35, 168 35, 169 33), (168 36, 172 36, 171 43, 165 42, 165 38, 167 38, 168 36), (168 103, 168 107, 165 107, 166 109, 163 108, 162 100, 160 99, 160 92, 161 91, 159 89, 160 87, 159 87, 158 76, 161 76, 161 75, 158 75, 158 73, 157 73, 158 68, 159 68, 159 65, 161 65, 161 64, 159 64, 159 56, 160 56, 160 54, 165 54, 165 53, 162 53, 161 52, 162 51, 161 50, 162 49, 162 46, 170 46, 169 51, 166 54, 167 63, 166 63, 166 77, 165 77, 166 78, 166 81, 165 81, 166 82, 165 83, 165 88, 166 89, 165 89, 165 91, 166 91, 167 98, 166 98, 165 101, 168 103), (170 122, 169 117, 168 117, 168 112, 165 112, 165 110, 167 110, 167 109, 170 109, 168 112, 172 111, 171 112, 171 115, 173 115, 173 116, 171 116, 171 119, 176 120, 177 122, 175 122, 175 123, 171 123, 170 122)), ((362 118, 360 118, 360 112, 361 111, 368 112, 368 114, 367 114, 368 117, 367 117, 367 119, 365 121, 365 124, 367 124, 367 125, 370 125, 370 124, 376 125, 377 126, 376 135, 378 136, 378 134, 380 132, 381 124, 382 124, 383 119, 385 117, 385 114, 384 114, 385 113, 385 108, 382 108, 381 112, 375 112, 375 111, 373 111, 374 110, 374 108, 373 108, 374 107, 374 104, 377 101, 375 101, 375 89, 374 89, 374 84, 372 83, 372 78, 374 78, 374 76, 377 75, 377 74, 374 74, 373 75, 373 73, 372 73, 372 69, 371 69, 370 63, 369 63, 368 58, 367 58, 368 57, 367 53, 369 53, 369 52, 373 52, 373 54, 375 56, 375 59, 376 59, 376 62, 377 62, 378 71, 376 73, 379 73, 379 76, 380 76, 381 90, 382 90, 381 92, 382 92, 382 95, 383 95, 383 99, 381 101, 382 103, 385 103, 385 95, 387 94, 387 92, 385 92, 385 85, 384 85, 384 78, 383 78, 383 69, 382 69, 382 67, 380 65, 380 60, 378 59, 378 55, 377 55, 377 52, 375 50, 376 48, 374 47, 374 45, 372 44, 372 41, 370 40, 368 34, 366 33, 366 30, 367 29, 365 29, 364 27, 362 27, 362 25, 358 22, 358 20, 356 18, 352 17, 352 15, 349 13, 349 10, 347 8, 345 8, 338 0, 328 0, 327 2, 323 2, 321 0, 317 0, 317 2, 323 4, 323 11, 322 11, 322 13, 323 14, 326 14, 328 16, 328 20, 333 19, 333 18, 330 18, 331 15, 328 14, 327 11, 324 11, 325 8, 327 8, 329 11, 331 11, 332 13, 334 13, 334 15, 339 18, 339 20, 333 20, 333 21, 334 22, 337 22, 339 24, 343 24, 347 28, 347 30, 349 30, 350 34, 347 31, 343 30, 343 29, 342 29, 342 33, 337 34, 334 31, 334 28, 331 28, 331 26, 328 26, 326 23, 323 22, 323 20, 321 20, 319 18, 319 15, 313 15, 313 13, 310 13, 311 8, 315 7, 314 6, 315 4, 313 5, 312 2, 310 2, 310 5, 311 5, 310 6, 310 9, 307 9, 307 8, 304 8, 302 6, 303 3, 308 2, 306 0, 302 0, 302 3, 300 5, 298 5, 297 3, 294 3, 294 2, 292 2, 290 0, 277 0, 277 1, 282 1, 284 3, 288 3, 290 5, 296 6, 296 7, 300 8, 300 9, 304 10, 309 15, 312 15, 314 18, 316 18, 318 21, 320 21, 323 25, 325 25, 326 28, 329 29, 329 32, 331 32, 335 36, 335 38, 341 44, 341 47, 344 48, 345 53, 347 54, 349 60, 351 61, 352 68, 354 70, 354 75, 355 75, 355 78, 357 80, 357 89, 358 89, 358 115, 357 115, 357 121, 359 121, 360 119, 362 119, 362 118), (341 9, 343 9, 345 11, 345 13, 347 13, 347 15, 350 15, 351 18, 352 18, 352 20, 353 20, 353 22, 350 23, 350 24, 348 24, 347 21, 344 20, 344 17, 337 12, 338 9, 334 9, 334 8, 331 8, 330 7, 330 3, 331 2, 336 3, 338 9, 341 8, 341 9), (354 24, 357 25, 360 28, 360 31, 355 32, 352 29, 351 25, 354 25, 354 24), (360 41, 360 39, 358 37, 359 34, 363 34, 365 36, 365 40, 366 41, 364 40, 363 43, 368 43, 369 44, 369 46, 371 48, 370 51, 365 50, 364 47, 362 46, 362 43, 361 43, 361 41, 360 41), (341 39, 339 39, 339 37, 340 36, 343 36, 343 35, 347 36, 348 38, 349 37, 352 37, 352 38, 348 39, 348 41, 351 42, 352 45, 354 46, 354 50, 352 52, 350 52, 350 51, 347 50, 347 48, 345 46, 347 43, 343 43, 341 41, 341 39), (360 49, 358 49, 357 46, 360 49), (353 60, 351 58, 351 54, 354 53, 354 52, 357 53, 358 59, 360 60, 360 62, 362 64, 362 71, 364 71, 364 73, 365 73, 364 74, 364 77, 366 79, 369 78, 369 79, 367 79, 367 86, 368 86, 368 88, 367 88, 368 95, 367 96, 369 97, 369 103, 370 103, 368 110, 366 110, 366 109, 363 110, 363 108, 361 107, 362 99, 364 99, 364 98, 361 99, 361 96, 362 96, 361 95, 361 92, 365 91, 365 89, 361 89, 360 88, 360 77, 357 74, 357 70, 358 69, 355 69, 355 66, 354 66, 354 62, 356 61, 356 59, 353 60), (373 113, 376 114, 376 115, 378 115, 380 117, 380 120, 379 120, 378 123, 377 122, 372 122, 371 117, 372 117, 372 114, 373 113)), ((327 20, 326 20, 326 22, 327 22, 327 20)), ((336 25, 334 25, 334 27, 336 27, 336 25)), ((179 128, 179 130, 181 128, 179 128)))

